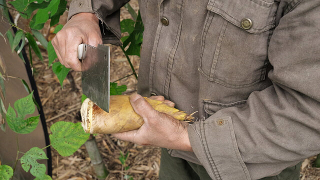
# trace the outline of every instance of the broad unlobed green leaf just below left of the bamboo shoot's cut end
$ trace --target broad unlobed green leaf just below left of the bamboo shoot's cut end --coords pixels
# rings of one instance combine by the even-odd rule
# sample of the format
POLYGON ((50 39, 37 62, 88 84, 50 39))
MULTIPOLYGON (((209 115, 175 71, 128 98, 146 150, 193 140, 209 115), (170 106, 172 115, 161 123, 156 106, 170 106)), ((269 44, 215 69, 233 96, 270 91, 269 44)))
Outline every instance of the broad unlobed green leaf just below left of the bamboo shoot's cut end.
POLYGON ((81 123, 58 121, 51 125, 51 145, 62 156, 73 154, 89 137, 81 123))

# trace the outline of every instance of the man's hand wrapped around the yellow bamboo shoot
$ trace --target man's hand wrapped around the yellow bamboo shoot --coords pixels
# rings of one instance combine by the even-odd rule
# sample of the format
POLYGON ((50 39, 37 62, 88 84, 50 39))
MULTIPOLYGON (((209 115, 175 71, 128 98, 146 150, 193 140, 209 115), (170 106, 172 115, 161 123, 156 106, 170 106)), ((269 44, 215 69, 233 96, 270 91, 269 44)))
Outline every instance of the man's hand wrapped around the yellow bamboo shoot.
MULTIPOLYGON (((163 96, 150 98, 165 101, 166 104, 174 106, 173 102, 164 100, 163 96)), ((187 122, 153 109, 139 94, 132 94, 130 103, 135 112, 143 118, 144 124, 137 130, 115 133, 114 137, 140 145, 192 151, 187 133, 187 122)))

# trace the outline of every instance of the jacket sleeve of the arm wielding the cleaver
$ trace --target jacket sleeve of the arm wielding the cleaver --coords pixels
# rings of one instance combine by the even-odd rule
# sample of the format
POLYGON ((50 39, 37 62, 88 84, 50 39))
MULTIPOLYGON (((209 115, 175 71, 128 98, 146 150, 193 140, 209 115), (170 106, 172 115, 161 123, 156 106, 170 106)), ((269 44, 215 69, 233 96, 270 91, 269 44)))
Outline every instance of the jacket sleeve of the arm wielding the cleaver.
POLYGON ((121 45, 120 8, 129 0, 72 0, 68 20, 80 12, 95 13, 99 19, 103 43, 121 45))

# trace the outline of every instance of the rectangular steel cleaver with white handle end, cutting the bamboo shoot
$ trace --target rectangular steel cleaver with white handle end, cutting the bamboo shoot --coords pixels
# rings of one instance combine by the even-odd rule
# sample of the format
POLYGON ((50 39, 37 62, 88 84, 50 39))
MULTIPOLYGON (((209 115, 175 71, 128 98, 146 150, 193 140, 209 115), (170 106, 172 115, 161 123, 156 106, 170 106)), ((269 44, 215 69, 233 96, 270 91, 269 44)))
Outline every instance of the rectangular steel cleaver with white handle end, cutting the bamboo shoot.
POLYGON ((82 93, 104 111, 109 112, 110 88, 110 48, 98 44, 78 45, 78 58, 81 61, 82 93))

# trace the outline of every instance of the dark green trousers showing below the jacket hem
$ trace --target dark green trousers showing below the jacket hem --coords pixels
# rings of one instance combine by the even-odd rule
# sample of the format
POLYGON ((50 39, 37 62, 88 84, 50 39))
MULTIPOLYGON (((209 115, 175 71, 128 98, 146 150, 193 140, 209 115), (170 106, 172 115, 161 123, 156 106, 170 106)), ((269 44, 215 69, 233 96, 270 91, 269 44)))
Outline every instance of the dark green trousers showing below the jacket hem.
MULTIPOLYGON (((259 180, 298 180, 301 162, 284 169, 275 176, 263 177, 259 180)), ((159 180, 206 180, 211 179, 202 165, 172 157, 166 149, 161 149, 159 180)))

